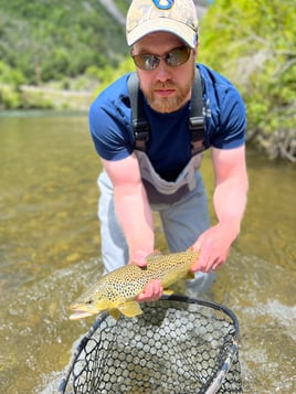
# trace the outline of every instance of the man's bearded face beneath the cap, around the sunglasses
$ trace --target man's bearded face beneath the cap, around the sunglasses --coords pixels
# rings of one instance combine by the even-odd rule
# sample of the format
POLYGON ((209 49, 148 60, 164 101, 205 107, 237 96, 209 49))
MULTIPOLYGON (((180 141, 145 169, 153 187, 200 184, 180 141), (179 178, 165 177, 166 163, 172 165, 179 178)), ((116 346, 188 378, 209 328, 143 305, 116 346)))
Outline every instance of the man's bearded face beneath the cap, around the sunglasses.
MULTIPOLYGON (((156 32, 135 43, 131 55, 167 55, 166 57, 170 58, 170 56, 173 56, 171 51, 183 46, 183 41, 177 35, 156 32)), ((178 66, 166 64, 163 58, 160 58, 155 70, 146 71, 136 65, 141 90, 155 110, 172 113, 181 108, 190 99, 191 85, 194 78, 195 55, 197 49, 190 50, 188 60, 178 66)), ((157 58, 156 62, 158 62, 157 58)))

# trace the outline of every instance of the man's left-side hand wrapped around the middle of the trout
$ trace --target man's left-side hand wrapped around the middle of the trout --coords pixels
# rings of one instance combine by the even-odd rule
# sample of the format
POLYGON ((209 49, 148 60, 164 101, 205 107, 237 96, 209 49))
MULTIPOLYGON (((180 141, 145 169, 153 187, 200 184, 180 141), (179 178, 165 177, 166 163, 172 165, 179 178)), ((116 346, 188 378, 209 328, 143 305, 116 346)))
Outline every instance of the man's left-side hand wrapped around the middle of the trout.
MULTIPOLYGON (((133 255, 133 259, 128 264, 134 263, 140 268, 145 268, 147 265, 147 254, 142 251, 138 251, 133 255)), ((156 301, 162 296, 162 287, 158 279, 150 281, 144 289, 144 291, 136 298, 136 301, 156 301)))

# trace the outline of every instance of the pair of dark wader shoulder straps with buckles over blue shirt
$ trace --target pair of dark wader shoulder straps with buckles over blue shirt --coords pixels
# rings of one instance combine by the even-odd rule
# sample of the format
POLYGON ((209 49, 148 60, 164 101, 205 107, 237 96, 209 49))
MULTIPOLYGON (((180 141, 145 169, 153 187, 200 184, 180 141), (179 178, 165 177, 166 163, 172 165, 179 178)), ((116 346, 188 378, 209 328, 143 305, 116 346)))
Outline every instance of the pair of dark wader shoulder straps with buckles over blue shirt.
MULTIPOLYGON (((137 73, 130 74, 128 78, 128 92, 133 116, 133 131, 135 137, 135 149, 145 151, 149 139, 149 123, 144 110, 144 96, 139 88, 137 73)), ((200 72, 195 68, 195 77, 192 83, 191 108, 189 118, 189 130, 191 132, 191 156, 204 150, 203 146, 203 100, 202 100, 202 82, 200 72)))

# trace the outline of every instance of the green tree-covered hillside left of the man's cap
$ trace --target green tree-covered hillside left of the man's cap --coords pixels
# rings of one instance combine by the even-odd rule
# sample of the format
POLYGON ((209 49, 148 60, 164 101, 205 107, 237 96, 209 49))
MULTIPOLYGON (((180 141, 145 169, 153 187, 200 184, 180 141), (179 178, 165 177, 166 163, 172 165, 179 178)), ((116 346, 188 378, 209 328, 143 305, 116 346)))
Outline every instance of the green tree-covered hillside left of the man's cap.
POLYGON ((0 57, 29 84, 116 66, 124 53, 124 28, 97 0, 0 0, 0 57))

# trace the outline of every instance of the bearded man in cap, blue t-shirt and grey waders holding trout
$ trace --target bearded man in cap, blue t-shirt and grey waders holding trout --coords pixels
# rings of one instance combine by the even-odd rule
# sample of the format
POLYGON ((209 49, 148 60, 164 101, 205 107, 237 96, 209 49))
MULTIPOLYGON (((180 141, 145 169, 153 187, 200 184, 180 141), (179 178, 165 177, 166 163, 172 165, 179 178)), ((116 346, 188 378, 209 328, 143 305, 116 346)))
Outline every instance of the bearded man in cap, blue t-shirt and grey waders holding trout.
MULTIPOLYGON (((128 262, 145 267, 155 248, 152 211, 158 211, 171 252, 200 251, 192 270, 193 285, 201 292, 225 262, 246 204, 244 105, 229 81, 195 64, 198 18, 192 0, 134 0, 126 34, 144 94, 149 139, 144 151, 135 145, 130 75, 124 75, 89 110, 91 134, 104 167, 98 178, 98 216, 105 271, 128 262), (191 151, 195 70, 202 81, 202 149, 211 147, 215 175, 216 223, 212 226, 199 172, 201 153, 191 151)), ((161 292, 155 280, 138 298, 158 299, 161 292)))

